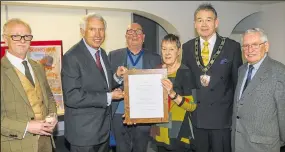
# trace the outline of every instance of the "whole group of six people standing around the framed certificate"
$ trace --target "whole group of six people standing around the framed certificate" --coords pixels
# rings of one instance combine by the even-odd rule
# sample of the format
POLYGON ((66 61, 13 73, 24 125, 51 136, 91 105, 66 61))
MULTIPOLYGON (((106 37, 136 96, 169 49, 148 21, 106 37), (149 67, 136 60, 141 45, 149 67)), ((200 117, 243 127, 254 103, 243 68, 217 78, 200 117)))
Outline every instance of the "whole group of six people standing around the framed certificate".
MULTIPOLYGON (((86 15, 82 39, 62 58, 65 138, 71 152, 108 152, 110 131, 116 152, 279 152, 285 144, 285 66, 271 59, 263 30, 253 28, 242 42, 217 33, 211 4, 194 14, 198 37, 181 44, 167 34, 161 56, 143 48, 142 26, 126 30, 126 48, 101 48, 107 23, 86 15), (242 53, 247 61, 243 64, 242 53), (124 122, 123 75, 128 69, 166 68, 161 80, 168 92, 168 123, 124 122)), ((8 44, 1 59, 1 152, 51 152, 56 112, 43 67, 27 59, 30 26, 7 21, 8 44), (23 61, 28 62, 26 66, 23 61)))

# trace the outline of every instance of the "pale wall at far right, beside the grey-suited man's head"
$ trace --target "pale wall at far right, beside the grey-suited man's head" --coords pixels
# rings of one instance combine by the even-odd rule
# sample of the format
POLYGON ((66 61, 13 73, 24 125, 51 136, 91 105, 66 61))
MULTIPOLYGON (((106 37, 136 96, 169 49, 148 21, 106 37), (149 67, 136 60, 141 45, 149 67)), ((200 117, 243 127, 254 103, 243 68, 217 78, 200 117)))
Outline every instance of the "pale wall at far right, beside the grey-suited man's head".
POLYGON ((285 64, 285 2, 262 6, 261 28, 270 42, 269 55, 285 64))

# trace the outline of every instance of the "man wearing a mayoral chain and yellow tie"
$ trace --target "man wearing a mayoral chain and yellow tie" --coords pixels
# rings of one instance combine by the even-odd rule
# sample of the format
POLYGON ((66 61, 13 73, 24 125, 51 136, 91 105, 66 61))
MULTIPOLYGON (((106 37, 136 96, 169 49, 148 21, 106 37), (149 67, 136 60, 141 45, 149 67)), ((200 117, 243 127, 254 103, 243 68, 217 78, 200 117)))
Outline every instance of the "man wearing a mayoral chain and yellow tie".
POLYGON ((216 33, 219 21, 211 4, 195 11, 199 37, 183 44, 182 62, 195 75, 197 109, 192 114, 196 152, 230 152, 230 127, 240 44, 216 33))

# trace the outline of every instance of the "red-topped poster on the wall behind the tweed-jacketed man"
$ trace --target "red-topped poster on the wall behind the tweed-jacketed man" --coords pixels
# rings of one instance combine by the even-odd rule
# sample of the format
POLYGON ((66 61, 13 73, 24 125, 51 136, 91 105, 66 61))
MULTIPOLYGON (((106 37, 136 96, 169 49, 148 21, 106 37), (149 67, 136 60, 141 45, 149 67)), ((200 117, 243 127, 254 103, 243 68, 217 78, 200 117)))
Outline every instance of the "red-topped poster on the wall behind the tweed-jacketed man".
MULTIPOLYGON (((6 49, 7 46, 1 42, 1 57, 4 56, 6 49)), ((32 41, 27 56, 44 66, 48 83, 56 101, 57 114, 63 115, 64 104, 60 77, 62 41, 32 41)))

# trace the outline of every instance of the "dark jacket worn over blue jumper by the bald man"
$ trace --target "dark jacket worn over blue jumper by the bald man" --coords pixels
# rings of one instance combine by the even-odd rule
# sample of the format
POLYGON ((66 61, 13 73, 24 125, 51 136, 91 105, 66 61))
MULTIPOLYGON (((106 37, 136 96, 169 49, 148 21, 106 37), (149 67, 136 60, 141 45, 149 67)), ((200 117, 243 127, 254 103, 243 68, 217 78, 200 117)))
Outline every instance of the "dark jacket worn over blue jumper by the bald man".
MULTIPOLYGON (((108 55, 111 67, 113 71, 116 71, 119 66, 127 65, 127 48, 122 48, 118 50, 111 51, 108 55)), ((161 64, 160 55, 153 53, 151 51, 145 50, 143 58, 143 69, 154 69, 161 64)), ((123 85, 123 84, 122 84, 123 85)), ((122 87, 113 86, 113 87, 122 87)), ((112 115, 116 112, 119 102, 112 102, 112 115)))

